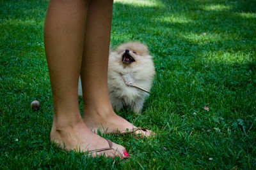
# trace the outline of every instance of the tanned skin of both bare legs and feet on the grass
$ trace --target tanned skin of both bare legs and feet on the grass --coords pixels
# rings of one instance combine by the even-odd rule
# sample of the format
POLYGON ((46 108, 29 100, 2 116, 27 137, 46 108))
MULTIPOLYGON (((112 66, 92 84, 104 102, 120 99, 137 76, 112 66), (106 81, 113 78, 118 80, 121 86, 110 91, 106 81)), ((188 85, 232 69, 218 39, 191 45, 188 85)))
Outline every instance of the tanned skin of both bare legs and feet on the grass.
MULTIPOLYGON (((45 16, 45 55, 49 68, 54 119, 51 141, 65 150, 108 148, 105 132, 135 128, 116 115, 108 97, 108 53, 113 0, 51 0, 45 16), (83 118, 77 101, 78 78, 83 87, 83 118), (65 146, 64 146, 65 145, 65 146)), ((98 152, 124 157, 124 146, 98 152)), ((95 157, 96 153, 92 153, 95 157)))

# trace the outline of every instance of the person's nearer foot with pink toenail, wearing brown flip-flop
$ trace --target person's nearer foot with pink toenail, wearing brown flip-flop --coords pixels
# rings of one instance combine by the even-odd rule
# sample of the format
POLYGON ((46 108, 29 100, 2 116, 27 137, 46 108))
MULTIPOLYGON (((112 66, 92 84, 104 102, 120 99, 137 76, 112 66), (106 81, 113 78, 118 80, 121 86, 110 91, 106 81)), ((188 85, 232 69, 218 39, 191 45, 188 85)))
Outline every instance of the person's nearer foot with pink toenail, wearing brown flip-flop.
POLYGON ((91 132, 83 121, 78 122, 75 125, 58 127, 52 126, 51 141, 57 143, 60 148, 64 148, 67 151, 75 150, 76 152, 88 152, 92 153, 92 157, 96 155, 105 155, 106 157, 127 157, 127 152, 124 146, 113 143, 113 146, 109 146, 106 139, 101 138, 97 134, 91 132), (101 148, 113 148, 101 152, 90 152, 90 150, 100 150, 101 148))

